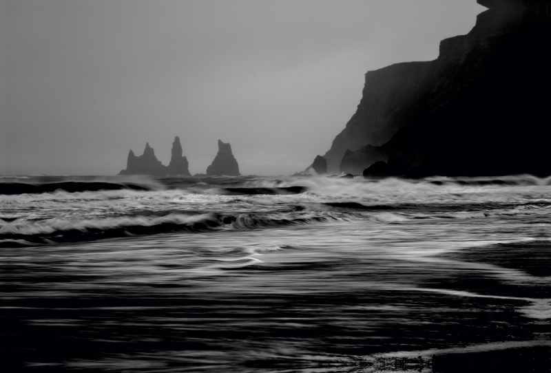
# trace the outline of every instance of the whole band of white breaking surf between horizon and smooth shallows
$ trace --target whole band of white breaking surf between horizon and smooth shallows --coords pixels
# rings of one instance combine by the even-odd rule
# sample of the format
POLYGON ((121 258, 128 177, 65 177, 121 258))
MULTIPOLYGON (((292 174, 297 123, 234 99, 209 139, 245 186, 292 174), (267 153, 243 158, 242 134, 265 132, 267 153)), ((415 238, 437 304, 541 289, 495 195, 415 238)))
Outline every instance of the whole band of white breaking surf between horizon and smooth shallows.
POLYGON ((13 178, 0 183, 0 246, 362 219, 537 216, 551 178, 13 178), (1 195, 4 194, 4 195, 1 195), (12 194, 12 195, 10 195, 12 194))

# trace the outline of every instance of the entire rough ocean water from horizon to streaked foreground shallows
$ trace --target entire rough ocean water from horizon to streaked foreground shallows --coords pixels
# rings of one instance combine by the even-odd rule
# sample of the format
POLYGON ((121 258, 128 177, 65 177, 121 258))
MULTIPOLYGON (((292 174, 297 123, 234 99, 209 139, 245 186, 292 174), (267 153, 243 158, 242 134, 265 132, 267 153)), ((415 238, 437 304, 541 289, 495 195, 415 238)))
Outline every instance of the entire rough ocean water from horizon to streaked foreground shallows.
POLYGON ((39 176, 0 192, 6 372, 488 372, 549 356, 550 178, 39 176))

